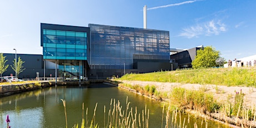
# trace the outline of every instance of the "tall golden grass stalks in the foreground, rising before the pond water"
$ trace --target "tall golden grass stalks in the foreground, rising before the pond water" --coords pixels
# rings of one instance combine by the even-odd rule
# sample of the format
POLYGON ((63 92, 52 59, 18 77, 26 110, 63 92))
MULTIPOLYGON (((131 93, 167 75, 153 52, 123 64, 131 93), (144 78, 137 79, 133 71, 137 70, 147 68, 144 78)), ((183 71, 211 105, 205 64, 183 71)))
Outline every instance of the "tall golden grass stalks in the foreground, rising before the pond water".
MULTIPOLYGON (((62 99, 61 99, 62 100, 62 99)), ((67 115, 66 115, 66 101, 62 100, 63 107, 65 108, 65 119, 66 119, 66 127, 67 127, 67 115)), ((142 110, 142 113, 139 113, 137 111, 137 107, 135 107, 135 110, 132 109, 132 107, 129 107, 130 102, 128 102, 128 97, 126 99, 126 105, 124 110, 122 109, 122 106, 120 106, 120 101, 116 101, 115 99, 110 102, 110 109, 109 112, 106 112, 106 107, 104 106, 104 126, 103 127, 109 127, 109 128, 117 128, 117 127, 140 127, 140 128, 148 128, 150 125, 149 122, 149 109, 147 109, 145 105, 145 109, 142 110), (107 116, 107 119, 105 118, 107 116)), ((162 114, 162 122, 161 127, 163 127, 165 122, 166 128, 169 127, 188 127, 190 126, 190 116, 188 119, 182 119, 181 118, 181 112, 178 109, 171 109, 172 106, 169 104, 168 108, 165 108, 165 105, 163 107, 163 114, 162 114)), ((88 116, 88 108, 86 109, 86 119, 84 119, 82 115, 82 123, 80 125, 81 128, 97 128, 102 127, 97 124, 96 119, 96 109, 97 104, 94 109, 94 113, 92 116, 92 120, 89 121, 88 116), (90 122, 90 124, 88 123, 90 122)), ((83 107, 82 107, 83 110, 83 107)), ((83 112, 82 112, 83 114, 83 112)), ((75 124, 73 126, 74 128, 78 128, 79 125, 75 124)), ((160 127, 160 126, 159 126, 160 127)), ((194 123, 194 127, 198 127, 196 123, 194 123)), ((207 122, 205 120, 205 125, 203 125, 203 121, 201 123, 201 127, 208 127, 207 122)))

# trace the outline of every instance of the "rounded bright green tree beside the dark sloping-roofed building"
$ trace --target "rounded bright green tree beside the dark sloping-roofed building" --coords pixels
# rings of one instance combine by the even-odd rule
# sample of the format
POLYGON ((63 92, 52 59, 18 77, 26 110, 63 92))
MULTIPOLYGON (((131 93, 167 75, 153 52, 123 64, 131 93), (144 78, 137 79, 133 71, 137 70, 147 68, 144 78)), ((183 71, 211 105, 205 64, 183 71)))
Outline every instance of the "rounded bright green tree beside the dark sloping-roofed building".
POLYGON ((195 60, 191 64, 193 68, 214 67, 219 57, 219 51, 216 51, 212 46, 206 46, 196 51, 195 60))

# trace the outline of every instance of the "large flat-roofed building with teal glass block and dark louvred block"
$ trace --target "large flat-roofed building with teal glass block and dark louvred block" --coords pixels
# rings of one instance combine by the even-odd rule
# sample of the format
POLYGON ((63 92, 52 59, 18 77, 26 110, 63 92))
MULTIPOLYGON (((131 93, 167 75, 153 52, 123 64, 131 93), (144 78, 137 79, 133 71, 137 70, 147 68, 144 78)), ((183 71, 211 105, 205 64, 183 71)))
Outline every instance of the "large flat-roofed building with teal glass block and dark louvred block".
POLYGON ((41 23, 43 59, 63 78, 171 70, 169 40, 169 31, 154 29, 41 23))

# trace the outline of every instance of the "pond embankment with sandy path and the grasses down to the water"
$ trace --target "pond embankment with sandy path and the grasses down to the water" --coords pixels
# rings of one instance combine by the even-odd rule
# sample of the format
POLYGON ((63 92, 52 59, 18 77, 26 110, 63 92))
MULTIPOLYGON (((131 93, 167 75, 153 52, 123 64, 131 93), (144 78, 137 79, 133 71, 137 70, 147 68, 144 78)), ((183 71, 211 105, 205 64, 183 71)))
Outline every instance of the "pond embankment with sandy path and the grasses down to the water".
MULTIPOLYGON (((186 85, 181 83, 163 83, 150 81, 112 81, 111 83, 151 99, 164 102, 171 101, 172 105, 179 107, 180 110, 184 110, 190 114, 195 114, 196 116, 201 116, 208 120, 222 122, 223 124, 227 124, 229 127, 256 127, 254 114, 256 111, 254 111, 254 107, 248 108, 245 104, 242 109, 242 105, 239 105, 238 103, 238 106, 240 106, 240 112, 238 111, 239 114, 234 112, 230 113, 232 110, 234 111, 235 109, 238 109, 235 108, 234 103, 231 102, 235 100, 235 94, 233 97, 230 97, 231 99, 229 99, 229 104, 220 100, 216 100, 217 97, 218 99, 224 99, 224 97, 227 97, 225 95, 231 96, 231 93, 229 93, 230 91, 233 91, 232 93, 234 93, 234 90, 243 90, 244 92, 247 92, 245 90, 252 90, 252 88, 249 87, 218 86, 218 90, 216 90, 216 85, 186 85), (155 86, 155 88, 152 88, 154 91, 151 89, 153 86, 155 86), (159 96, 154 92, 157 92, 158 94, 165 93, 166 96, 159 96), (212 102, 214 102, 214 104, 211 104, 212 102), (216 107, 211 105, 215 105, 216 107), (209 109, 206 107, 209 107, 209 109)), ((251 92, 249 94, 246 93, 243 96, 250 96, 253 94, 254 92, 251 92)), ((225 101, 227 100, 228 99, 225 99, 225 101)), ((248 103, 247 97, 245 97, 244 101, 248 103)), ((250 103, 252 103, 253 100, 250 101, 250 103)))

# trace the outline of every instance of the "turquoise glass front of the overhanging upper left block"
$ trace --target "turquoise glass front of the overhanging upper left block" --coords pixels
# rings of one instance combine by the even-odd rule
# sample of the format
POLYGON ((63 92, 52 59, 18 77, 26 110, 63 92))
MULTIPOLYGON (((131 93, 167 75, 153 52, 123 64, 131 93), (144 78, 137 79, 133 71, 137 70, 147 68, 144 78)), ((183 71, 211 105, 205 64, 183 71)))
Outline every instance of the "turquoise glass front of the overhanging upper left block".
POLYGON ((87 60, 87 32, 43 29, 43 59, 87 60))

